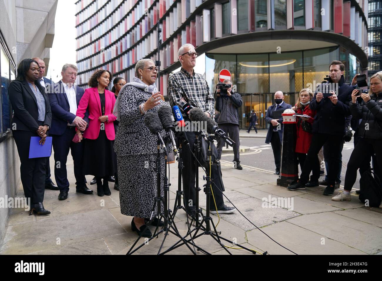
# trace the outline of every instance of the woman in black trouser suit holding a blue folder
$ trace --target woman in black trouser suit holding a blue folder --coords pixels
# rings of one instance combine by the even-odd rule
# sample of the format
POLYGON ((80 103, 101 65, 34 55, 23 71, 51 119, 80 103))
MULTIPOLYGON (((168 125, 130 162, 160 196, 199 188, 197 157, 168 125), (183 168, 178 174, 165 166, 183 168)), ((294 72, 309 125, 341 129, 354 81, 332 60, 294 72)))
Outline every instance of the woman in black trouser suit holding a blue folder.
POLYGON ((17 67, 16 79, 9 86, 9 99, 14 111, 12 133, 21 162, 21 183, 30 206, 29 214, 50 214, 42 201, 45 191, 46 157, 29 159, 31 136, 39 136, 44 145, 52 121, 47 94, 40 83, 39 64, 30 58, 22 60, 17 67))

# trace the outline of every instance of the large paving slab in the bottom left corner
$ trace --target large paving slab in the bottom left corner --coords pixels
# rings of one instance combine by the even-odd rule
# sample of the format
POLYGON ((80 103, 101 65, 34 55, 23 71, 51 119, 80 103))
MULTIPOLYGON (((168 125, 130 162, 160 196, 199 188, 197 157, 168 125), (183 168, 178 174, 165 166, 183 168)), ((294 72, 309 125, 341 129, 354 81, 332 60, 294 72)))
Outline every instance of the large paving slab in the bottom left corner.
POLYGON ((8 226, 1 254, 28 254, 124 233, 108 210, 77 213, 8 226))

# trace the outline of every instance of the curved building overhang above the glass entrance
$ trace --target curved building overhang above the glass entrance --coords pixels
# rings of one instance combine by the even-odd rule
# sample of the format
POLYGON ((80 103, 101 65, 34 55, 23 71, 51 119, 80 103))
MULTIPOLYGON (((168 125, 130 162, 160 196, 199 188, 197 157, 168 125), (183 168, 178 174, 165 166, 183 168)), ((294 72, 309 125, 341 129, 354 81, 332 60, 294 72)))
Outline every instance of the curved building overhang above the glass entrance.
MULTIPOLYGON (((222 37, 206 42, 196 48, 199 53, 213 52, 224 54, 282 52, 319 49, 340 45, 353 54, 360 62, 361 68, 367 68, 367 54, 349 37, 333 32, 317 30, 268 30, 248 32, 222 37)), ((180 62, 162 70, 170 73, 180 67, 180 62)))

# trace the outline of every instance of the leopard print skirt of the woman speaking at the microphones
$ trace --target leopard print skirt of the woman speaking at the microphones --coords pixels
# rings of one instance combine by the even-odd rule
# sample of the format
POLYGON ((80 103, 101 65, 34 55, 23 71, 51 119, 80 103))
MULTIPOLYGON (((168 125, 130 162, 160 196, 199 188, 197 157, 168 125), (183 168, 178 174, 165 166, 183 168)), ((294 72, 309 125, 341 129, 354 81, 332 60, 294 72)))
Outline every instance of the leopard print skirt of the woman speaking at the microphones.
MULTIPOLYGON (((120 187, 121 214, 150 218, 157 196, 156 154, 121 156, 117 154, 118 184, 120 187), (145 165, 146 164, 146 165, 145 165)), ((160 193, 163 192, 165 157, 160 154, 160 193)), ((163 203, 161 203, 163 211, 163 203)), ((155 204, 154 215, 157 212, 155 204)))

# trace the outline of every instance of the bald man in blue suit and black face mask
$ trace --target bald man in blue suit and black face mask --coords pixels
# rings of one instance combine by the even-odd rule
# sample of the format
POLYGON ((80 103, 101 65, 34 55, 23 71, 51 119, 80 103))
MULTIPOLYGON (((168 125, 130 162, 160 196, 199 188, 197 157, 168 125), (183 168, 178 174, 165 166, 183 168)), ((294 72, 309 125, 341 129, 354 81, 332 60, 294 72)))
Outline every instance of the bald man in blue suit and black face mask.
POLYGON ((281 162, 281 146, 283 142, 283 118, 282 113, 285 109, 291 108, 290 104, 284 102, 284 94, 282 91, 275 93, 275 104, 268 107, 265 114, 265 122, 269 123, 267 138, 265 143, 272 145, 273 156, 275 158, 276 172, 275 175, 280 175, 281 162))

